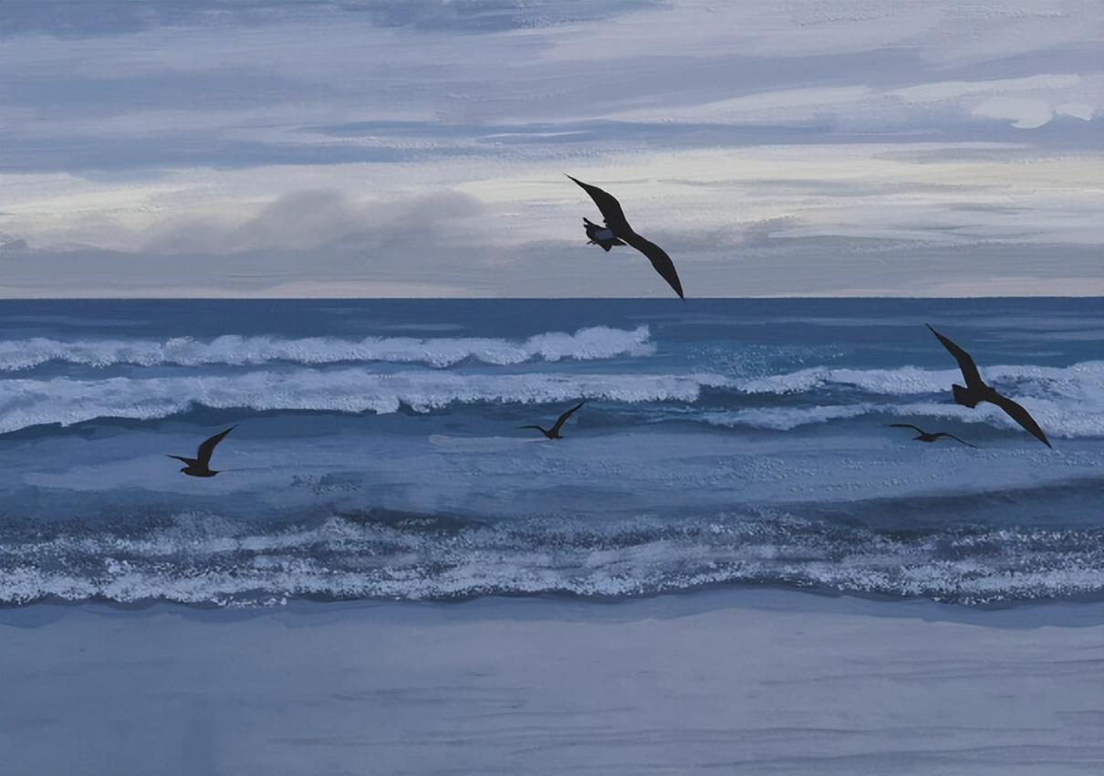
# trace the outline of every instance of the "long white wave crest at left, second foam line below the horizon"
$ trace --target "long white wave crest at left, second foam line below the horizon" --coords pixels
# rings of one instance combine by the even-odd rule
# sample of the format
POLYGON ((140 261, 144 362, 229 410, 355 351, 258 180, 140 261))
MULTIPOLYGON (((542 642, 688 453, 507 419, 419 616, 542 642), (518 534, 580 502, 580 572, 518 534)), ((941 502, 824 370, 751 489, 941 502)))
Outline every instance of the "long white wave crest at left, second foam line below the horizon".
POLYGON ((365 369, 254 371, 225 377, 0 380, 0 433, 95 418, 153 419, 194 406, 216 409, 424 412, 454 402, 543 403, 576 398, 694 401, 720 375, 457 375, 365 369))

